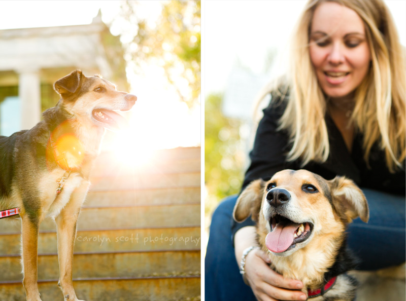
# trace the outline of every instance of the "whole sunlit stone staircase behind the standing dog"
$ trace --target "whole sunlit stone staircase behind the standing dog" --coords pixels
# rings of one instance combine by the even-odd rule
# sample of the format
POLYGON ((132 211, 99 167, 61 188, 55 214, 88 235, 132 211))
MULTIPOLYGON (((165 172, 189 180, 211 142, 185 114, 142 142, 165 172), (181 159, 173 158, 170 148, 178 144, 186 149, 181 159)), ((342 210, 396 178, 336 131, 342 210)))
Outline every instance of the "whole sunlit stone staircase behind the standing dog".
MULTIPOLYGON (((200 148, 159 150, 137 167, 102 153, 78 221, 74 286, 87 301, 200 300, 200 148)), ((20 221, 0 220, 0 300, 24 301, 20 221)), ((43 301, 57 287, 56 228, 41 224, 43 301)))

